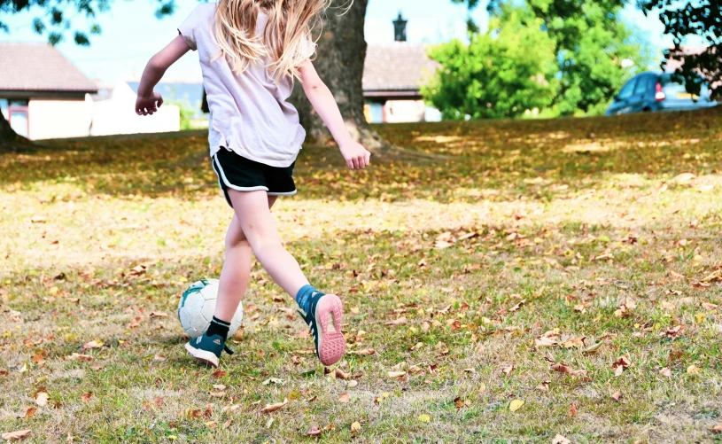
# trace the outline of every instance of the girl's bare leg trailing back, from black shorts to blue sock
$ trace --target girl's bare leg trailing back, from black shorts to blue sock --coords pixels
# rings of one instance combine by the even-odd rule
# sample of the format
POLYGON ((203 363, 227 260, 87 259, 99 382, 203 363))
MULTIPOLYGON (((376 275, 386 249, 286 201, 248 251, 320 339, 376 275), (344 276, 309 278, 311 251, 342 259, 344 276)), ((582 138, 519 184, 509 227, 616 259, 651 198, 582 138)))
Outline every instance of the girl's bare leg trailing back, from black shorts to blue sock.
MULTIPOLYGON (((260 264, 291 298, 308 284, 299 262, 288 253, 268 208, 266 191, 229 190, 236 220, 260 264)), ((221 275, 222 276, 222 275, 221 275)), ((246 281, 247 282, 247 281, 246 281)))

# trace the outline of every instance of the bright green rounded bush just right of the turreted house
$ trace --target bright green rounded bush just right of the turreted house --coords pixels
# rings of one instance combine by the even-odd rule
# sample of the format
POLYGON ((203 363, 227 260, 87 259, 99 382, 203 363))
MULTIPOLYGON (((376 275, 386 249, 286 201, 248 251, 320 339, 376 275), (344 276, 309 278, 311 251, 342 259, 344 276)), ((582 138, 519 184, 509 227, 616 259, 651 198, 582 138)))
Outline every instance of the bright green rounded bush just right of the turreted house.
POLYGON ((516 117, 551 105, 557 89, 554 42, 540 20, 527 27, 524 10, 509 6, 489 31, 439 45, 430 56, 441 64, 424 97, 445 119, 516 117), (530 57, 534 54, 535 57, 530 57))

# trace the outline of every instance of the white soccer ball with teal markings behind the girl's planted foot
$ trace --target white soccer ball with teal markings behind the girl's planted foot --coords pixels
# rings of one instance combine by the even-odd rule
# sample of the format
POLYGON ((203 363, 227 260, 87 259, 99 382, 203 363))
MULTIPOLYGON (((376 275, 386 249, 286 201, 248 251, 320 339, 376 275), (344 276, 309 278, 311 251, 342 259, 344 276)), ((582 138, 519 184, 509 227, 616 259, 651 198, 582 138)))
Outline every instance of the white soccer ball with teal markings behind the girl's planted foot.
MULTIPOLYGON (((178 320, 182 329, 190 338, 198 338, 208 330, 215 311, 215 299, 218 296, 218 279, 201 279, 194 282, 183 292, 178 302, 178 320)), ((243 304, 238 304, 236 314, 230 320, 229 338, 233 336, 243 321, 243 304)))

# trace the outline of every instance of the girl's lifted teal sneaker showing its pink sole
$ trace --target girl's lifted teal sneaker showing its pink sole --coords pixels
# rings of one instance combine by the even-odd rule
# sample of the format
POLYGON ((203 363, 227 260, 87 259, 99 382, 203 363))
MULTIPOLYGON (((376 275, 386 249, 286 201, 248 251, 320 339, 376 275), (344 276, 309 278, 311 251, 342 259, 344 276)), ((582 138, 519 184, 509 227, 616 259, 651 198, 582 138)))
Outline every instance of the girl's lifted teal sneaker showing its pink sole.
POLYGON ((333 365, 344 357, 346 341, 341 331, 343 312, 343 305, 337 295, 320 292, 314 292, 311 296, 311 309, 307 314, 299 310, 299 315, 311 329, 316 355, 323 365, 333 365))

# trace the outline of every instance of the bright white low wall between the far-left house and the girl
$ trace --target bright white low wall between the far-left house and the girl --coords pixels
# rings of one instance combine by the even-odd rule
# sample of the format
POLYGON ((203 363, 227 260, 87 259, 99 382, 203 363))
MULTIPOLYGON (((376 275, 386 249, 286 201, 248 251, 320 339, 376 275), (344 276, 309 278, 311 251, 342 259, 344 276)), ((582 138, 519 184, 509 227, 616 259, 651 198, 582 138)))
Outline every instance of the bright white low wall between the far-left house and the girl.
POLYGON ((92 102, 90 136, 113 134, 162 133, 181 129, 181 110, 176 105, 162 105, 157 113, 139 116, 134 108, 136 93, 126 82, 113 88, 110 98, 92 102))

